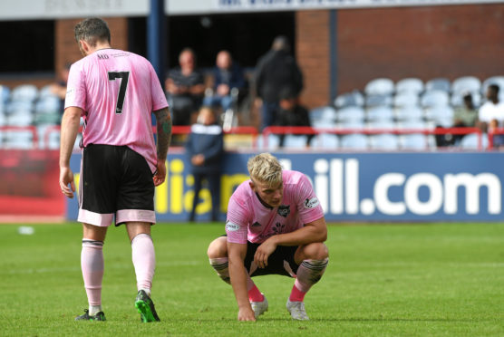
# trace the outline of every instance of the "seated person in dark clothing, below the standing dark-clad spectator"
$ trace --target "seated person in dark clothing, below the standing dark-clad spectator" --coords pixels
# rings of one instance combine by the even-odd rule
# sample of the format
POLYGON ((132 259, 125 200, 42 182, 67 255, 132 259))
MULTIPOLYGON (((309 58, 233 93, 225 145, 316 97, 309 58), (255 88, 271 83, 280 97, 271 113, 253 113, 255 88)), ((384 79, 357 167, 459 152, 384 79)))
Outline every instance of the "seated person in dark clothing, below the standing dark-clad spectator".
MULTIPOLYGON (((299 104, 299 99, 297 97, 296 91, 285 88, 280 91, 278 95, 280 101, 280 110, 276 115, 276 125, 277 126, 306 126, 311 127, 309 112, 303 106, 299 104)), ((314 138, 314 134, 307 134, 306 146, 309 145, 310 140, 314 138)), ((280 146, 284 146, 284 135, 280 135, 280 146)))

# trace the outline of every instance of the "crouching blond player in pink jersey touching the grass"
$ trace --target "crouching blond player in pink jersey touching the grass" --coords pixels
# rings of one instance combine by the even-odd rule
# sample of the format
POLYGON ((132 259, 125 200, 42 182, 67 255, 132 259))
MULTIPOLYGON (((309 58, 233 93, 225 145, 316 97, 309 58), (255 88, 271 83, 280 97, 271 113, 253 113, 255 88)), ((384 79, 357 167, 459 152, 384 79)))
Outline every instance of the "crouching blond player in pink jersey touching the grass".
POLYGON ((295 320, 307 320, 306 292, 325 272, 327 228, 308 178, 282 170, 262 153, 248 160, 250 180, 229 199, 226 236, 208 246, 210 265, 233 286, 238 321, 256 321, 267 299, 250 277, 282 274, 296 277, 286 307, 295 320))

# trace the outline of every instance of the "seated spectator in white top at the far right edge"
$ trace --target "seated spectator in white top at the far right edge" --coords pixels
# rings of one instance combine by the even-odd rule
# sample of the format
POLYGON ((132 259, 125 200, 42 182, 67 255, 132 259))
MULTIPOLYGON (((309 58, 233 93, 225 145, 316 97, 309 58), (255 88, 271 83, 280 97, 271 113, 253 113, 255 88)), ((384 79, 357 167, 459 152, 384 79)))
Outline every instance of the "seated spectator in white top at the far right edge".
MULTIPOLYGON (((504 102, 499 101, 499 85, 490 84, 486 92, 487 100, 480 107, 479 120, 483 131, 492 131, 502 128, 504 124, 504 102)), ((504 136, 495 135, 494 147, 504 145, 504 136)))

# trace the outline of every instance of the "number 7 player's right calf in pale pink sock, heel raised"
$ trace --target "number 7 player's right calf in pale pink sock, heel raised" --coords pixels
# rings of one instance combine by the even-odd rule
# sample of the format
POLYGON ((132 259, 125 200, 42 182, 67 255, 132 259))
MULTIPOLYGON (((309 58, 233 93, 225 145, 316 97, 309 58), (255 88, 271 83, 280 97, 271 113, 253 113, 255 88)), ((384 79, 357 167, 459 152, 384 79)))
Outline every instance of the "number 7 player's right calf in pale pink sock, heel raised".
POLYGON ((144 290, 150 296, 152 278, 156 267, 156 255, 152 238, 148 234, 139 234, 131 240, 131 256, 138 290, 144 290))

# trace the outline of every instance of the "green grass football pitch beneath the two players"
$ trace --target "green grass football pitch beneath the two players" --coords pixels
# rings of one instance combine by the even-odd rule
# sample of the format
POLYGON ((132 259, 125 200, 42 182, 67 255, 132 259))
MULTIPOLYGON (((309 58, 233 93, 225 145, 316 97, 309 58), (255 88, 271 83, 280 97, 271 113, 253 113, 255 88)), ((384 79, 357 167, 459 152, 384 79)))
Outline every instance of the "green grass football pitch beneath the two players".
POLYGON ((123 227, 105 245, 107 322, 74 322, 87 307, 78 224, 0 225, 0 336, 502 336, 504 224, 329 226, 330 261, 305 297, 308 322, 291 321, 293 280, 259 276, 269 311, 237 322, 231 287, 208 265, 223 224, 153 227, 152 299, 160 323, 134 308, 131 246, 123 227), (32 225, 30 225, 32 226, 32 225))

